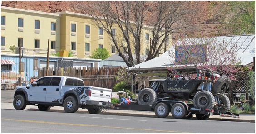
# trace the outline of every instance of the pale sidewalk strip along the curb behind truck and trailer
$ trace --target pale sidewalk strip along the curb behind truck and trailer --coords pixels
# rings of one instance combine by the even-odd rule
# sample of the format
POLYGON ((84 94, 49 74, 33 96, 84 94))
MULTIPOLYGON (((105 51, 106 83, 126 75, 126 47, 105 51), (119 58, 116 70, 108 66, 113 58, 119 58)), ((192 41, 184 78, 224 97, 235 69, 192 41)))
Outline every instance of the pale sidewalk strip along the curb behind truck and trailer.
MULTIPOLYGON (((12 103, 5 103, 5 102, 1 102, 1 109, 15 110, 12 103)), ((25 110, 39 111, 37 106, 34 106, 34 105, 27 105, 25 110)), ((60 107, 60 106, 51 107, 51 109, 49 111, 50 112, 65 112, 63 107, 60 107)), ((86 114, 88 114, 89 112, 88 112, 87 109, 79 108, 76 113, 84 113, 84 114, 86 113, 86 114)), ((132 111, 132 110, 112 110, 112 109, 110 109, 110 110, 106 111, 105 113, 101 113, 101 114, 103 114, 103 115, 122 115, 122 116, 139 116, 139 117, 157 118, 155 113, 151 112, 151 111, 132 111)), ((170 113, 167 118, 173 119, 172 114, 170 113)), ((196 116, 194 115, 194 117, 191 120, 197 120, 196 116)), ((237 118, 232 118, 232 117, 223 117, 223 116, 220 116, 220 115, 213 115, 213 116, 210 116, 209 120, 255 123, 255 115, 253 115, 253 114, 240 114, 240 118, 238 118, 238 119, 237 118)))

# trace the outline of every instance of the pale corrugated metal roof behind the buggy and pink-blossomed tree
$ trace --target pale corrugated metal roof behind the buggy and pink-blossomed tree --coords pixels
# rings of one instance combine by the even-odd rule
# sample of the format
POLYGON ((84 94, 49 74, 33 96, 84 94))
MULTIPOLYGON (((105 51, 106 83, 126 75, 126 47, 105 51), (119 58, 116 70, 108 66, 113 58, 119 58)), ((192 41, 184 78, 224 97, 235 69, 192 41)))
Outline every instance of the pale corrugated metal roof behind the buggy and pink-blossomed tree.
MULTIPOLYGON (((253 62, 253 57, 255 57, 255 34, 252 35, 236 35, 236 36, 219 36, 217 37, 217 42, 222 41, 228 42, 230 47, 232 44, 237 44, 237 58, 241 59, 241 65, 247 65, 253 62)), ((199 41, 198 41, 199 42, 199 41)), ((166 67, 172 66, 174 59, 168 54, 169 51, 174 52, 174 48, 169 48, 160 57, 156 57, 147 62, 137 64, 133 67, 129 67, 129 70, 166 70, 166 67)))

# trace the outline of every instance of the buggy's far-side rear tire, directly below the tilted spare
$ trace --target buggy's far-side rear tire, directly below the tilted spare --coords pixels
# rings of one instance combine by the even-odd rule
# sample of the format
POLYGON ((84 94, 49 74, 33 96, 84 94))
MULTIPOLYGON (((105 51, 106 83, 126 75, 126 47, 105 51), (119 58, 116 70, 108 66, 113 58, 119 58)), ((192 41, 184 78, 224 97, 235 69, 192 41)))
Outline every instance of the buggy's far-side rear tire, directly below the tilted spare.
MULTIPOLYGON (((230 101, 226 95, 216 96, 216 97, 217 97, 217 101, 218 101, 217 107, 218 107, 218 110, 221 111, 221 113, 224 114, 228 110, 230 110, 230 101)), ((214 107, 213 109, 217 110, 216 107, 214 107)))

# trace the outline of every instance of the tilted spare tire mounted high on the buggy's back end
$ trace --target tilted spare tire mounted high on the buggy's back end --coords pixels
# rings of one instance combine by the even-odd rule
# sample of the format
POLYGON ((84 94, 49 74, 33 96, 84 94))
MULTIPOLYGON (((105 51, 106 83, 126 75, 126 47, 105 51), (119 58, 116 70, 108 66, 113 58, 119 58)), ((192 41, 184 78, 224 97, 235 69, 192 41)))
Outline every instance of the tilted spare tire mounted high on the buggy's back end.
POLYGON ((230 78, 225 75, 222 75, 213 84, 212 91, 214 93, 224 94, 227 91, 227 89, 229 88, 229 85, 230 85, 230 78))

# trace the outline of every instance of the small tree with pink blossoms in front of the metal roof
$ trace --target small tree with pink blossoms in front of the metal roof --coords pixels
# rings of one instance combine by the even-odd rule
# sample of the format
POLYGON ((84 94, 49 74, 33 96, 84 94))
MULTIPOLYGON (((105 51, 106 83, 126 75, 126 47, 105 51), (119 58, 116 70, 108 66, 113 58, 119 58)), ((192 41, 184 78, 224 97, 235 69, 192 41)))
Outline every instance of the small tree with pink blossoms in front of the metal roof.
POLYGON ((169 56, 174 67, 211 69, 232 79, 233 73, 240 70, 237 66, 240 62, 236 53, 238 45, 225 39, 204 34, 199 38, 181 35, 181 39, 173 44, 175 50, 169 50, 169 56))

